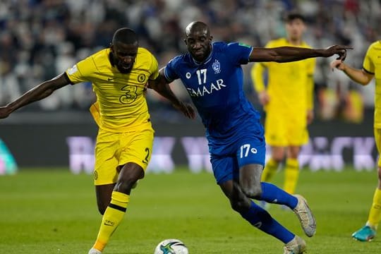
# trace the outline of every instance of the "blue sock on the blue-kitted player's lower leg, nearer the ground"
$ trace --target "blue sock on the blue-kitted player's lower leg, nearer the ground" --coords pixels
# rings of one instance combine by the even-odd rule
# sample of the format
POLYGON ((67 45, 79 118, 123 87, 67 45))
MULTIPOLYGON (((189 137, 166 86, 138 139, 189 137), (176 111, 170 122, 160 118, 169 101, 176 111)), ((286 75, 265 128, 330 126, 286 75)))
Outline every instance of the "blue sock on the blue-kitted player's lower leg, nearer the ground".
POLYGON ((283 243, 288 243, 295 237, 294 234, 279 224, 279 222, 273 219, 266 210, 262 209, 259 205, 256 205, 253 201, 251 201, 249 210, 242 212, 241 216, 253 226, 274 236, 283 243))

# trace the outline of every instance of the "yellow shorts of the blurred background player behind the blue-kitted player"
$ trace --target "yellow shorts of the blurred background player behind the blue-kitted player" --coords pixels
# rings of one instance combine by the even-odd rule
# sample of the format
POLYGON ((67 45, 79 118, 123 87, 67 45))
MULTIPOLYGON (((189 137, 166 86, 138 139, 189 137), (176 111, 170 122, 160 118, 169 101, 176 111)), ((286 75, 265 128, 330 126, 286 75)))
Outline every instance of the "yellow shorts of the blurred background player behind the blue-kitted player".
POLYGON ((267 113, 265 119, 266 143, 272 146, 301 146, 308 143, 307 116, 288 116, 267 113))

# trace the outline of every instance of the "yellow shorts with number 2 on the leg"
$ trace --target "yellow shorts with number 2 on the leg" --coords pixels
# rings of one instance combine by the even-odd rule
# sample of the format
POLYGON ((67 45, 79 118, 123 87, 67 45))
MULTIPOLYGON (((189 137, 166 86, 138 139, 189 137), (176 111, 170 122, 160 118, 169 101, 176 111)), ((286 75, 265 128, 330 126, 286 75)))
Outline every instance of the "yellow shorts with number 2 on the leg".
POLYGON ((134 162, 145 171, 151 159, 153 140, 152 128, 126 133, 99 128, 95 145, 95 185, 116 183, 117 167, 127 162, 134 162))

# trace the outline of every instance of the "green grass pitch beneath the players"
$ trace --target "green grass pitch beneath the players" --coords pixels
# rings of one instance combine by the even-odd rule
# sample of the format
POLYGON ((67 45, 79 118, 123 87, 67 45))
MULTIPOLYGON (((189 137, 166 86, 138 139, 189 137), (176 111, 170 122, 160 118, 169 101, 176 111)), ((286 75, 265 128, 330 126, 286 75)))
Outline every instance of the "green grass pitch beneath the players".
MULTIPOLYGON (((274 183, 282 186, 283 172, 274 183)), ((308 254, 381 253, 381 236, 351 239, 365 223, 377 184, 376 171, 301 171, 298 193, 317 219, 313 238, 303 235, 293 212, 272 205, 270 214, 302 236, 308 254)), ((0 253, 87 254, 97 235, 92 176, 68 169, 23 170, 0 176, 0 253)), ((105 254, 150 254, 159 241, 179 238, 191 254, 283 253, 283 244, 231 210, 211 174, 147 174, 131 195, 126 217, 105 254)))

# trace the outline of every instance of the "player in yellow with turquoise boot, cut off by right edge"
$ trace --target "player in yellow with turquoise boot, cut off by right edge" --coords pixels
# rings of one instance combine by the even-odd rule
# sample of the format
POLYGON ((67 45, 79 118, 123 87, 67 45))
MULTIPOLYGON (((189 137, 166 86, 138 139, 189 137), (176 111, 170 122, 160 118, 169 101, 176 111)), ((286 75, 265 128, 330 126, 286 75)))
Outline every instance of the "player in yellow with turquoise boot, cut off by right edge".
POLYGON ((346 65, 340 60, 331 63, 332 68, 343 71, 351 80, 361 85, 368 85, 375 77, 375 115, 374 115, 374 135, 378 150, 378 186, 373 195, 373 203, 370 207, 368 221, 365 226, 352 234, 358 241, 371 241, 375 238, 377 226, 381 219, 381 40, 373 42, 368 47, 363 60, 363 68, 356 69, 346 65))

